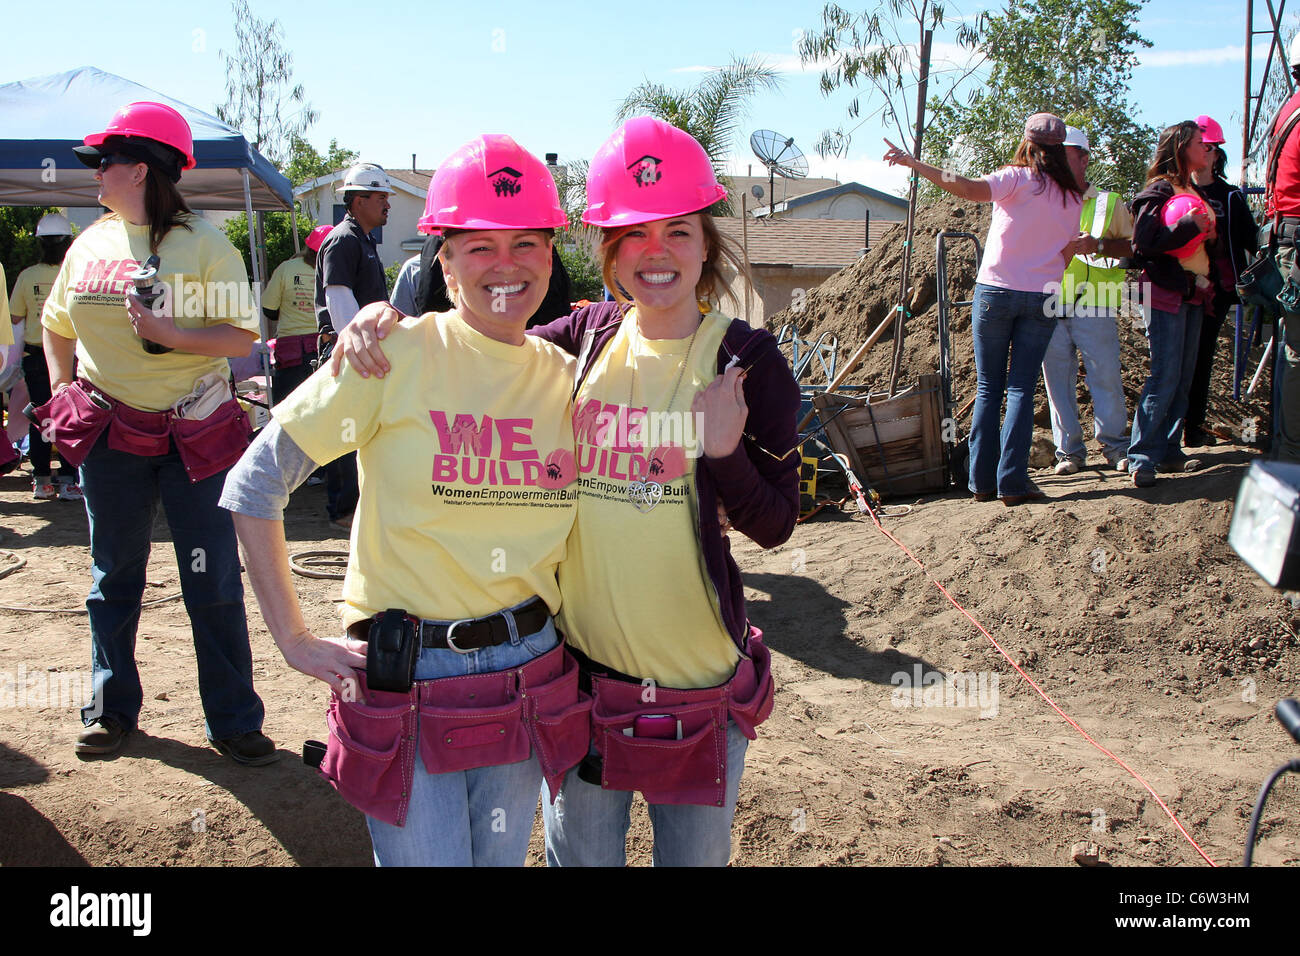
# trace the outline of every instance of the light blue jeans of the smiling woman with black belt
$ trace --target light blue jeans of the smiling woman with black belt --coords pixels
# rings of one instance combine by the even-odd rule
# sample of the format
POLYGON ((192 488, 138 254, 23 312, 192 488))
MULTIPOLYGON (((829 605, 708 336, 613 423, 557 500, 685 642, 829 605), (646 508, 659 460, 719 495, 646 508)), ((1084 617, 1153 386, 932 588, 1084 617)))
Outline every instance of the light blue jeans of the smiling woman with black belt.
MULTIPOLYGON (((559 643, 550 618, 532 635, 519 635, 514 618, 507 620, 507 644, 468 654, 422 648, 415 665, 416 680, 519 667, 559 643)), ((542 767, 536 753, 517 763, 450 774, 430 774, 416 757, 406 826, 365 818, 374 865, 523 866, 541 787, 542 767)))

